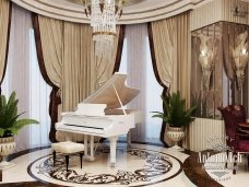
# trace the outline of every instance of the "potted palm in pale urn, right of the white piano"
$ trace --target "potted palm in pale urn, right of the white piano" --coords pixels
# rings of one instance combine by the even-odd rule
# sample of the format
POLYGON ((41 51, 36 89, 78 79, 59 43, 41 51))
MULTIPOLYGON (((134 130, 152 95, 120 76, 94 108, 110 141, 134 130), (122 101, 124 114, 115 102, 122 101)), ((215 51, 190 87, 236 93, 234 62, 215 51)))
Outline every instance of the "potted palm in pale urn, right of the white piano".
POLYGON ((161 96, 163 100, 164 112, 153 112, 152 117, 162 118, 163 121, 169 125, 167 136, 175 141, 174 150, 182 151, 183 149, 177 145, 177 142, 185 137, 185 127, 194 118, 191 115, 197 109, 192 106, 186 109, 186 101, 180 97, 180 93, 169 93, 166 96, 161 96))

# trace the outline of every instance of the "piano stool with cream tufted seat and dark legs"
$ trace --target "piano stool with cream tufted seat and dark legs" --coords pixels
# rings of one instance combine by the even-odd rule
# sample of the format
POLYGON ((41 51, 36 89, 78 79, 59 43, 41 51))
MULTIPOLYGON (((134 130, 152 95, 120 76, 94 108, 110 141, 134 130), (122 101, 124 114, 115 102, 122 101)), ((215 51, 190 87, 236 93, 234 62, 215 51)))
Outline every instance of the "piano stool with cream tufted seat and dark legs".
POLYGON ((66 154, 66 164, 67 164, 67 172, 69 168, 69 155, 73 153, 80 153, 80 159, 81 159, 81 168, 82 168, 82 159, 83 159, 83 153, 84 153, 84 144, 82 143, 75 143, 72 141, 63 141, 63 142, 58 142, 58 143, 52 143, 51 144, 52 149, 52 155, 54 155, 54 166, 56 163, 56 153, 60 152, 66 154))

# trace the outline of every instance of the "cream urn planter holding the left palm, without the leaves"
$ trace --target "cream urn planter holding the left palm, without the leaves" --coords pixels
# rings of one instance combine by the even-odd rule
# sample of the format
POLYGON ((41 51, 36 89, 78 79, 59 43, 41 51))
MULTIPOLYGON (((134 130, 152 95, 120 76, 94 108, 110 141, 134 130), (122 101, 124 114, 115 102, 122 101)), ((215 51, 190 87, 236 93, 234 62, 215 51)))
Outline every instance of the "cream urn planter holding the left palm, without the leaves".
POLYGON ((7 162, 7 156, 13 153, 15 149, 14 137, 0 138, 0 170, 7 170, 14 166, 13 163, 7 162))

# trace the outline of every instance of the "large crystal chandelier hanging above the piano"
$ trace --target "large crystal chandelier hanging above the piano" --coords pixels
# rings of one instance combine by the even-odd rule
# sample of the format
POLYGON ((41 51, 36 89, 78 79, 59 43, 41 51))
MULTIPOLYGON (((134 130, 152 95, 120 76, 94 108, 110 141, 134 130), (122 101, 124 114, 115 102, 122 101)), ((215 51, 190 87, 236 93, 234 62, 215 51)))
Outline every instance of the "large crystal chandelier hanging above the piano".
POLYGON ((83 0, 93 27, 96 56, 109 58, 116 37, 116 21, 121 16, 124 3, 126 0, 83 0))

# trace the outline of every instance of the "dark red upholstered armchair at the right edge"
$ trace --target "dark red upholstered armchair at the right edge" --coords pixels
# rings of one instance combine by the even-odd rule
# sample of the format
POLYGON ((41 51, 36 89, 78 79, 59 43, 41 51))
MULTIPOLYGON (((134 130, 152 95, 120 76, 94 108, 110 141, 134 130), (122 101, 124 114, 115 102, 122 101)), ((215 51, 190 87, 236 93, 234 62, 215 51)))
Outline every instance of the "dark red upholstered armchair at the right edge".
MULTIPOLYGON (((242 105, 228 105, 226 107, 218 107, 218 110, 222 113, 225 121, 226 143, 233 150, 233 174, 236 174, 237 153, 249 154, 249 124, 246 122, 245 107, 242 105), (244 127, 239 126, 240 124, 244 124, 244 127)), ((228 152, 229 150, 227 150, 227 156, 228 152)), ((227 163, 225 167, 227 167, 227 163)))

